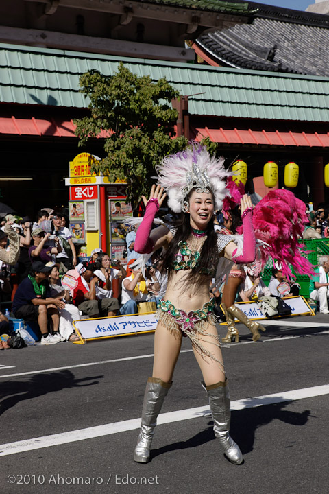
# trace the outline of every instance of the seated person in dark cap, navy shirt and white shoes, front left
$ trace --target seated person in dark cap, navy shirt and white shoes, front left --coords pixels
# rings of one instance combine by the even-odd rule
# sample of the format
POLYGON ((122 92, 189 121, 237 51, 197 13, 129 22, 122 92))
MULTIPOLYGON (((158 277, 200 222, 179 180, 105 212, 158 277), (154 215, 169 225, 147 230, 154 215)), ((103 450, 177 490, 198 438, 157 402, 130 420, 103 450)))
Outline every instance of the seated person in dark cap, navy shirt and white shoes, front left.
POLYGON ((59 310, 65 308, 65 303, 61 298, 52 297, 49 285, 45 283, 51 269, 51 266, 45 266, 41 261, 33 262, 29 276, 17 288, 12 302, 12 312, 16 318, 38 322, 42 344, 54 344, 62 340, 58 333, 59 310), (48 321, 53 334, 48 331, 48 321))

